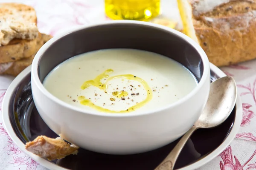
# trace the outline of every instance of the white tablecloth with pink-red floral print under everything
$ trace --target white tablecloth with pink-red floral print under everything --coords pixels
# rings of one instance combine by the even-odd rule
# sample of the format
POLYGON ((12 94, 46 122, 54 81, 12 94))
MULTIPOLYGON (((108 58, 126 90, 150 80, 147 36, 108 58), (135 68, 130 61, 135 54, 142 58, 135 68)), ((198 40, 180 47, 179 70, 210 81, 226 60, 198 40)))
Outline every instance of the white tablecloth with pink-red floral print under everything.
MULTIPOLYGON (((108 20, 104 0, 0 0, 33 6, 42 33, 56 35, 67 28, 108 20)), ((165 17, 177 22, 175 0, 162 0, 165 17)), ((256 54, 255 54, 256 55, 256 54)), ((236 139, 223 153, 200 170, 256 170, 256 60, 221 68, 236 79, 243 105, 243 119, 236 139)), ((0 76, 0 114, 3 96, 14 77, 0 76)), ((8 136, 0 115, 0 170, 45 170, 26 156, 8 136)))

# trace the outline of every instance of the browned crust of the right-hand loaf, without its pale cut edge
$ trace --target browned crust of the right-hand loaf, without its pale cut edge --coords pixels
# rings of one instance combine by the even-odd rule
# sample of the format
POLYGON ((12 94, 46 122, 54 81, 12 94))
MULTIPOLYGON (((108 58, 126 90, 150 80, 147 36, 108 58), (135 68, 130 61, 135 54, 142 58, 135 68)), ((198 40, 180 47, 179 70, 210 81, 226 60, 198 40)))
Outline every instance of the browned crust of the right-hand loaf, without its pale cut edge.
POLYGON ((256 58, 256 4, 233 0, 194 19, 195 34, 209 61, 227 66, 256 58))

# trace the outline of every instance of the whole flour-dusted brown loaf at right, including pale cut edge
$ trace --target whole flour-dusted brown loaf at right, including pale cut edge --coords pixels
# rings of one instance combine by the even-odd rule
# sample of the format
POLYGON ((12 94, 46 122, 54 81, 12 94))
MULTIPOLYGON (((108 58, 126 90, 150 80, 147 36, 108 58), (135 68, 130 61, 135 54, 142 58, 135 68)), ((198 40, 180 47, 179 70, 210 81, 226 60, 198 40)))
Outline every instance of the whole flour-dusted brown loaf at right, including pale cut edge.
POLYGON ((209 61, 226 66, 256 58, 256 0, 177 0, 184 34, 209 61))

